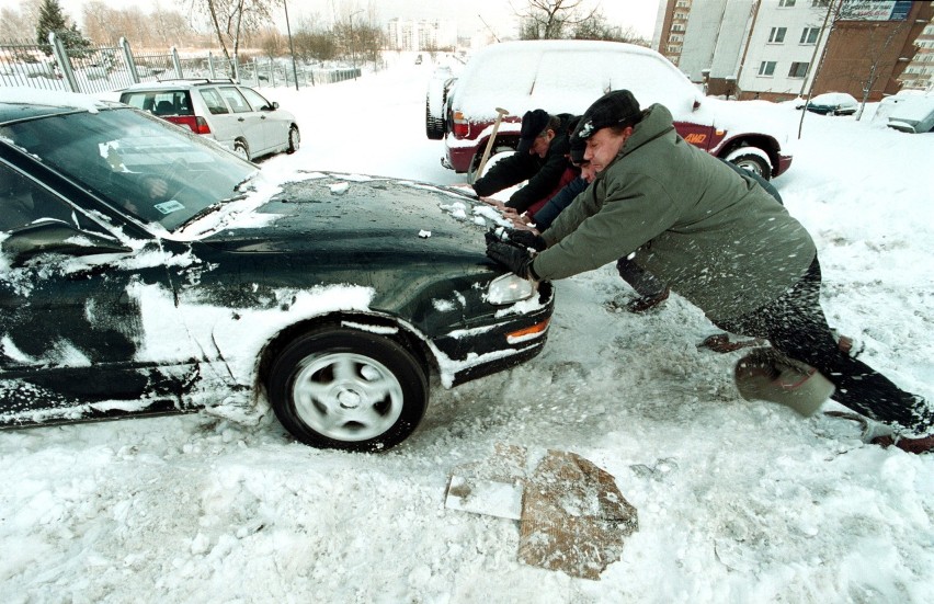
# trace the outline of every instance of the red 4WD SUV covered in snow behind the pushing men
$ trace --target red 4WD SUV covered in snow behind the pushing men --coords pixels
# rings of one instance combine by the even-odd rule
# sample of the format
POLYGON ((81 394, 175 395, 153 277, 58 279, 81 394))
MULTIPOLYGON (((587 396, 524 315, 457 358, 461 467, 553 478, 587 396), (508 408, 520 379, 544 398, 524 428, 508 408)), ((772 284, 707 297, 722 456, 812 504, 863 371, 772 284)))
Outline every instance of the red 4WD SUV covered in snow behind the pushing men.
POLYGON ((524 41, 477 53, 457 78, 429 84, 429 138, 445 140, 442 163, 476 178, 497 107, 510 114, 500 126, 497 151, 514 150, 522 115, 544 109, 582 114, 610 90, 629 89, 645 107, 665 105, 684 139, 765 179, 791 164, 782 149, 786 135, 768 132, 749 103, 705 98, 660 54, 631 44, 524 41))

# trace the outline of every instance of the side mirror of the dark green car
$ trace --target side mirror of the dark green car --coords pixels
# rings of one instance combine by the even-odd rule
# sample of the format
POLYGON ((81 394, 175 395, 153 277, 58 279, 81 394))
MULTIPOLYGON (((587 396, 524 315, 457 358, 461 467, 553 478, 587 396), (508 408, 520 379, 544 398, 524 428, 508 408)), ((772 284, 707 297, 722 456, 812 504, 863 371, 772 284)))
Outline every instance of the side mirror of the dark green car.
POLYGON ((0 241, 0 252, 11 255, 14 264, 22 264, 44 253, 81 257, 129 251, 133 251, 132 248, 109 237, 79 230, 55 218, 45 218, 14 229, 0 241))

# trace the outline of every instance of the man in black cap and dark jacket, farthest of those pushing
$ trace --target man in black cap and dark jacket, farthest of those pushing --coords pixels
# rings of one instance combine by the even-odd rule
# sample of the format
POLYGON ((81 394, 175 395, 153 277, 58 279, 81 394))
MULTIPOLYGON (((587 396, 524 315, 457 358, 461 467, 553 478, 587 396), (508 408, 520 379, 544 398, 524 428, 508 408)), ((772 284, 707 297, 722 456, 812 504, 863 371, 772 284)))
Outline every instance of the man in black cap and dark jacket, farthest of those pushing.
POLYGON ((568 125, 574 116, 562 113, 549 115, 542 109, 528 111, 522 117, 516 152, 498 161, 474 182, 481 200, 500 209, 515 214, 536 210, 578 175, 568 161, 568 125), (528 181, 503 203, 488 200, 504 189, 528 181))

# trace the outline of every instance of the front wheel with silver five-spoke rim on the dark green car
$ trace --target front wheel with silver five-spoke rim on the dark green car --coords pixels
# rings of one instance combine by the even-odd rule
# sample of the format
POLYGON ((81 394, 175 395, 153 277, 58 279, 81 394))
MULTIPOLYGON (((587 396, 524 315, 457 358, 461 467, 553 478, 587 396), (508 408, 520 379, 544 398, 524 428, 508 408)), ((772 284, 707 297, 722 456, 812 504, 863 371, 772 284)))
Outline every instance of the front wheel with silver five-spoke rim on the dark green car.
POLYGON ((405 441, 428 408, 425 368, 398 342, 335 328, 295 339, 266 381, 278 421, 319 448, 385 451, 405 441))

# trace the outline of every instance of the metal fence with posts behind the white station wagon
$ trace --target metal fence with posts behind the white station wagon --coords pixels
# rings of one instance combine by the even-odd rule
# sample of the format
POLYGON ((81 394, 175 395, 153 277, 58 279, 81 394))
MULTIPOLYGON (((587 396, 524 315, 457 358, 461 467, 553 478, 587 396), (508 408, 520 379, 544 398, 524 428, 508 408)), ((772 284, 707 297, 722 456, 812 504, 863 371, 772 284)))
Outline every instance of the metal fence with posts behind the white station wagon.
POLYGON ((232 78, 248 86, 307 87, 356 79, 360 67, 293 65, 291 59, 240 61, 167 54, 135 55, 126 38, 114 45, 65 48, 54 33, 48 44, 0 42, 0 86, 96 93, 130 84, 183 78, 232 78), (297 83, 296 83, 297 80, 297 83))

